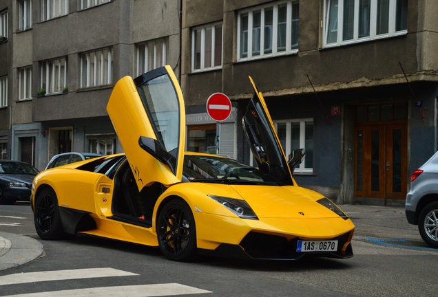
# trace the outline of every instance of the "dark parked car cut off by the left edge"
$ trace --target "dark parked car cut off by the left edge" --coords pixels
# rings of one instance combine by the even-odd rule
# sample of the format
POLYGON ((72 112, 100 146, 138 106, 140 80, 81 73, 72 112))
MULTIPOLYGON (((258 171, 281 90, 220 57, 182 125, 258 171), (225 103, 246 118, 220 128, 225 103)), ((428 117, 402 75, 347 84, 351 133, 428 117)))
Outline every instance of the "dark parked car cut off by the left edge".
POLYGON ((0 159, 0 204, 29 201, 30 186, 39 170, 19 161, 0 159))

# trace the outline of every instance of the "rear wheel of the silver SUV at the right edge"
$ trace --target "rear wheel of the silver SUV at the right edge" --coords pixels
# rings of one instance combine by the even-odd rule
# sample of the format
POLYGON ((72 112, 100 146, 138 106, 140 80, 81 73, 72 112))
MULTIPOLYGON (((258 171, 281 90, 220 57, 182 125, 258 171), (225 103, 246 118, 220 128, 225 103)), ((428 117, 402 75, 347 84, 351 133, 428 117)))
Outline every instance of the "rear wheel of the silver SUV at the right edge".
POLYGON ((421 238, 432 248, 438 248, 438 201, 429 203, 419 214, 421 238))

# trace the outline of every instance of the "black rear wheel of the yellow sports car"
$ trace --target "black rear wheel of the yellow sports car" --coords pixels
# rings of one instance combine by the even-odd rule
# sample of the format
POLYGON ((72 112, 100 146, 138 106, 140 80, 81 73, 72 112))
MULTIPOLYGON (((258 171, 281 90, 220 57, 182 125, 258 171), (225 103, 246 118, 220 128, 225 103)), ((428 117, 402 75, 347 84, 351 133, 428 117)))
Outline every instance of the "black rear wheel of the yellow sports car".
POLYGON ((45 188, 36 197, 34 223, 41 239, 59 239, 63 234, 58 199, 52 188, 45 188))

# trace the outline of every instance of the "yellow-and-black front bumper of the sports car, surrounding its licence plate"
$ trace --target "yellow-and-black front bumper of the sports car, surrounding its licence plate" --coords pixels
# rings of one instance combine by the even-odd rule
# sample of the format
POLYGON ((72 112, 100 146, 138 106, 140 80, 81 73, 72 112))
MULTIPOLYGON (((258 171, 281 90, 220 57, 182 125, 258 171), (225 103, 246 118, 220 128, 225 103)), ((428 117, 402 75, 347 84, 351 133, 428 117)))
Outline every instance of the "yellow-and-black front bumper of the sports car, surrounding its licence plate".
POLYGON ((260 220, 222 217, 195 212, 198 248, 249 259, 300 259, 305 254, 349 258, 354 225, 342 218, 265 218, 260 220), (298 240, 337 240, 332 252, 298 252, 298 240))

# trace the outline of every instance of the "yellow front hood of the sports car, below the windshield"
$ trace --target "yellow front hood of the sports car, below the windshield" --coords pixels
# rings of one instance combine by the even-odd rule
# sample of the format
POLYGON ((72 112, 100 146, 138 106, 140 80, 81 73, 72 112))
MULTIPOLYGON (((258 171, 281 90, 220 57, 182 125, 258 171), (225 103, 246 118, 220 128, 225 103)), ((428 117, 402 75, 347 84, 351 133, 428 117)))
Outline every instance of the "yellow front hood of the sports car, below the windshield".
POLYGON ((231 186, 261 218, 339 218, 318 199, 324 196, 300 186, 231 186))

